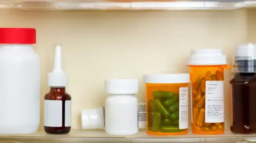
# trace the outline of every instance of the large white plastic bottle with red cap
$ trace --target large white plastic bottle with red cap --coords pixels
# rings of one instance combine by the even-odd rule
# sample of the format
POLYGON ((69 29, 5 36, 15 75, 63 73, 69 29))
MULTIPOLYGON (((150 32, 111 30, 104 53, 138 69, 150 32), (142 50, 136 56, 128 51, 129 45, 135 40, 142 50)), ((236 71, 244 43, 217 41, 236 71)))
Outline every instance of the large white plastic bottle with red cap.
POLYGON ((36 132, 40 117, 40 60, 36 30, 0 28, 0 134, 36 132))

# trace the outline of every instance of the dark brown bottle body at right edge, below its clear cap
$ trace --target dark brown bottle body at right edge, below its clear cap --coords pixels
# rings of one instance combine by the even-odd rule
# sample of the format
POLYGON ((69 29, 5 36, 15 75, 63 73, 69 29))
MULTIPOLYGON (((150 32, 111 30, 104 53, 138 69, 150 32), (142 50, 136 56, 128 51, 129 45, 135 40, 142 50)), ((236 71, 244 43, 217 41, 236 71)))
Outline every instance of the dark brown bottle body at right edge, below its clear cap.
POLYGON ((232 85, 234 133, 256 133, 256 74, 236 73, 230 81, 232 85))

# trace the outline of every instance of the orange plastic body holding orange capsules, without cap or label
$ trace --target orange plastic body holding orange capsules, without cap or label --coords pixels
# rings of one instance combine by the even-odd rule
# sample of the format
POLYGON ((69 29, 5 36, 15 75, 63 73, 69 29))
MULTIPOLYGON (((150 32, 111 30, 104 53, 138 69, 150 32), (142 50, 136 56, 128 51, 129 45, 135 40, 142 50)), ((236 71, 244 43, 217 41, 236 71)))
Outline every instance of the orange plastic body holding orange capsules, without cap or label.
POLYGON ((224 122, 205 123, 205 83, 209 80, 224 80, 224 70, 227 65, 193 65, 189 67, 193 108, 192 132, 197 134, 224 133, 224 122))

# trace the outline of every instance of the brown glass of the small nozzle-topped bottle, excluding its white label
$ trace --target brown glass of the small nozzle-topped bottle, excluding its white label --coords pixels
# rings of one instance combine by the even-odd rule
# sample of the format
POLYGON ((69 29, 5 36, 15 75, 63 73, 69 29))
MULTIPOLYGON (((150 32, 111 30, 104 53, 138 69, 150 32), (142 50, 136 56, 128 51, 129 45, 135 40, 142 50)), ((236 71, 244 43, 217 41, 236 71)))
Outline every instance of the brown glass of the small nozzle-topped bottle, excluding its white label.
POLYGON ((51 88, 51 91, 44 96, 46 100, 62 100, 62 127, 46 127, 44 130, 50 134, 66 134, 70 132, 71 127, 65 127, 65 101, 71 100, 71 96, 65 91, 65 88, 51 88))

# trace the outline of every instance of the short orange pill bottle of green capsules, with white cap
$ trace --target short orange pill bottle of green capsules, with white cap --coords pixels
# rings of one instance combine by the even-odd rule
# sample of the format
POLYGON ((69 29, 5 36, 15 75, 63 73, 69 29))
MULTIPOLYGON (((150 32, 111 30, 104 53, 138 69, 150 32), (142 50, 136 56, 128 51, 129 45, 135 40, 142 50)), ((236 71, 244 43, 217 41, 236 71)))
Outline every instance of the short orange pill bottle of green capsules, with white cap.
POLYGON ((147 74, 146 129, 148 134, 188 132, 188 73, 147 74))

